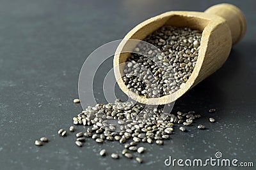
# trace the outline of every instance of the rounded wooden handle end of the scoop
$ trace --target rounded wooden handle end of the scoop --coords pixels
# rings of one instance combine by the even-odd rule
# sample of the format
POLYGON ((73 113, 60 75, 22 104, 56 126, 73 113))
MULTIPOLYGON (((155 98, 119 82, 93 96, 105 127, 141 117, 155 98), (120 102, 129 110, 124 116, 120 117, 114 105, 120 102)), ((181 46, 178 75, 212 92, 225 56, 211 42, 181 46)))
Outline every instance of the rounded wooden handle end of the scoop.
POLYGON ((246 20, 243 12, 233 4, 216 4, 211 6, 205 13, 218 15, 227 21, 232 34, 232 44, 240 41, 246 31, 246 20))

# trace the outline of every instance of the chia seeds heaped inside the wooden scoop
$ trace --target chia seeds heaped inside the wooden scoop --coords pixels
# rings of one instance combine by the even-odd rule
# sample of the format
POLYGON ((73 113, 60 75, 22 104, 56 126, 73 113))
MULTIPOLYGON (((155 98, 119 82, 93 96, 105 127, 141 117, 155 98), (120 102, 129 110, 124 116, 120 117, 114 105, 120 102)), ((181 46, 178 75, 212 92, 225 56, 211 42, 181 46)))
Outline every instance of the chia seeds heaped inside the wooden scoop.
POLYGON ((127 88, 148 98, 179 90, 195 68, 201 36, 198 30, 171 26, 148 35, 125 63, 127 88))

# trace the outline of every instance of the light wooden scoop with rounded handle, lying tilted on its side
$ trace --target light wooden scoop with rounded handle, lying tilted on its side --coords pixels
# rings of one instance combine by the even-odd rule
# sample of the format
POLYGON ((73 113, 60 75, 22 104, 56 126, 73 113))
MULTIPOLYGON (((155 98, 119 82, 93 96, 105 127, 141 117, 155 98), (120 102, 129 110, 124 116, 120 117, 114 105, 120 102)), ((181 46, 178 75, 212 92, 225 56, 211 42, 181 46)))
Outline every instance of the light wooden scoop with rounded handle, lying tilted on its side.
POLYGON ((140 103, 151 105, 172 103, 219 69, 227 60, 232 45, 243 38, 245 31, 244 15, 239 8, 232 4, 217 4, 204 12, 169 11, 157 15, 134 27, 118 46, 114 57, 114 72, 117 83, 127 96, 140 103), (142 40, 163 25, 190 27, 202 31, 196 66, 188 81, 173 94, 156 98, 139 96, 129 90, 122 80, 122 76, 124 76, 124 64, 122 63, 126 62, 131 55, 127 52, 127 47, 132 50, 137 45, 128 43, 127 39, 142 40))

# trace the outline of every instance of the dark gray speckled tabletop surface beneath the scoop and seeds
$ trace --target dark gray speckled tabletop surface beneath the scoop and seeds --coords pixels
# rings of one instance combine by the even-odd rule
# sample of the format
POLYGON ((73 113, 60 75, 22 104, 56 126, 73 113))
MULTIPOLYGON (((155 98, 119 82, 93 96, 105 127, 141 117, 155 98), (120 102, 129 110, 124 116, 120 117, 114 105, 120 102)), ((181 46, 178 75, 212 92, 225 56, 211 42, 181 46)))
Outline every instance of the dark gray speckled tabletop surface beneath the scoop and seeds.
MULTIPOLYGON (((60 138, 82 110, 77 97, 79 70, 100 45, 120 39, 143 20, 169 10, 204 11, 223 1, 1 1, 0 2, 0 169, 170 169, 164 160, 223 157, 255 162, 255 1, 230 1, 244 11, 248 30, 224 66, 182 96, 175 108, 195 110, 205 131, 175 129, 164 146, 145 145, 145 164, 122 157, 99 157, 99 145, 74 145, 60 138), (207 113, 208 108, 216 113, 207 113), (207 119, 214 115, 216 123, 207 119), (47 136, 38 148, 35 139, 47 136)), ((106 62, 107 63, 107 62, 106 62)), ((104 64, 102 70, 111 68, 104 64)), ((100 81, 100 80, 99 80, 100 81)), ((98 101, 104 102, 100 87, 98 101)), ((99 91, 97 91, 99 90, 99 91)), ((118 96, 124 97, 122 92, 118 96)), ((84 127, 77 127, 84 131, 84 127)), ((106 143, 109 152, 119 143, 106 143)), ((256 166, 256 165, 255 165, 256 166)), ((177 167, 176 167, 177 168, 177 167)), ((217 169, 215 167, 215 169, 217 169)))

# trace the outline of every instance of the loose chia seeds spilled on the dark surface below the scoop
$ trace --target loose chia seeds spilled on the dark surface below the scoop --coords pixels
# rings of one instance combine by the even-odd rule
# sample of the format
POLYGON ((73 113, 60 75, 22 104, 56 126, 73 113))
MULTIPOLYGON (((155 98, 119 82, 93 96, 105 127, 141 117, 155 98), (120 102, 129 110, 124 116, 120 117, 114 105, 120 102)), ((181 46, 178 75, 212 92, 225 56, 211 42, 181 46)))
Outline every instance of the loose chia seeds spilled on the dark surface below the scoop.
MULTIPOLYGON (((79 103, 78 100, 74 103, 79 103)), ((113 159, 119 159, 120 155, 123 155, 127 159, 134 158, 142 163, 143 159, 140 156, 134 157, 136 152, 137 155, 145 153, 146 148, 139 147, 140 143, 164 145, 164 140, 170 139, 175 126, 178 126, 180 131, 186 132, 186 127, 192 126, 194 120, 201 117, 195 111, 168 113, 165 107, 141 105, 133 101, 122 103, 120 99, 116 99, 115 103, 88 106, 77 117, 72 118, 74 125, 88 126, 85 132, 76 132, 75 144, 82 147, 86 138, 92 138, 97 143, 108 141, 124 143, 124 150, 120 150, 121 154, 118 152, 109 154, 106 149, 102 149, 99 155, 102 157, 110 155, 113 159)), ((210 113, 214 111, 216 110, 209 110, 210 113)), ((215 122, 214 118, 209 118, 209 121, 215 122)), ((199 124, 197 128, 203 130, 205 125, 199 124)), ((72 125, 69 131, 74 133, 76 128, 72 125)), ((58 131, 63 137, 67 136, 67 133, 64 129, 58 131)), ((35 145, 42 146, 45 142, 48 142, 47 138, 40 138, 35 141, 35 145)))

